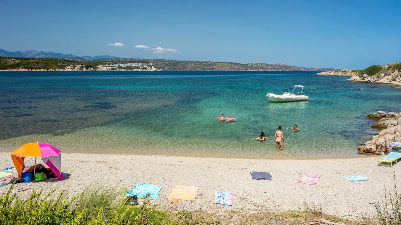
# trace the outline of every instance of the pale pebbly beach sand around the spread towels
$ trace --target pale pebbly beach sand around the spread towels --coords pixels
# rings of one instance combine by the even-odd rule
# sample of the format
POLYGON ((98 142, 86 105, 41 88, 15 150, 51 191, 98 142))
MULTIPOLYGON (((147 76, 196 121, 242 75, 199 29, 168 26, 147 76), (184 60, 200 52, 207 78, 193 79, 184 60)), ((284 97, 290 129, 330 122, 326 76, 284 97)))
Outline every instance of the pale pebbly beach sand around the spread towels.
MULTIPOLYGON (((13 166, 8 154, 0 153, 2 169, 13 166)), ((373 212, 372 203, 381 199, 384 185, 393 187, 393 171, 401 177, 401 165, 377 167, 379 158, 273 160, 63 153, 62 172, 70 174, 68 179, 20 183, 16 189, 43 188, 47 193, 60 187, 59 191, 66 189, 67 194, 76 195, 97 179, 119 182, 122 189, 131 189, 134 183, 152 183, 162 185, 159 200, 152 201, 152 205, 173 211, 201 210, 224 215, 232 209, 249 213, 302 210, 306 200, 326 205, 324 213, 357 219, 373 212), (251 171, 267 171, 273 181, 253 180, 251 171), (322 175, 321 186, 297 185, 298 173, 322 175), (370 177, 370 181, 350 182, 342 178, 353 175, 370 177), (176 185, 199 187, 195 201, 180 200, 170 205, 167 197, 176 185), (235 192, 235 206, 216 206, 215 189, 235 192)), ((34 159, 26 159, 26 164, 33 165, 34 159)), ((0 194, 8 187, 0 187, 0 194)), ((18 195, 28 197, 30 191, 18 195)))

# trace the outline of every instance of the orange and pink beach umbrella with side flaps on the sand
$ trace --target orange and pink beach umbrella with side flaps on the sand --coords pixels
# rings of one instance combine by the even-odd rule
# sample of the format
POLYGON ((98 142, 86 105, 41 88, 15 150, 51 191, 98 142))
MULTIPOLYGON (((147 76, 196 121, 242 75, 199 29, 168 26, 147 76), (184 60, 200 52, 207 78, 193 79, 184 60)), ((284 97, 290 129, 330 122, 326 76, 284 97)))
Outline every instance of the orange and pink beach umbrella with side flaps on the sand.
POLYGON ((53 145, 38 142, 28 143, 13 151, 10 156, 18 171, 18 177, 21 177, 22 170, 25 168, 25 157, 35 157, 35 165, 36 159, 42 159, 57 177, 61 180, 64 179, 61 175, 61 151, 53 145))

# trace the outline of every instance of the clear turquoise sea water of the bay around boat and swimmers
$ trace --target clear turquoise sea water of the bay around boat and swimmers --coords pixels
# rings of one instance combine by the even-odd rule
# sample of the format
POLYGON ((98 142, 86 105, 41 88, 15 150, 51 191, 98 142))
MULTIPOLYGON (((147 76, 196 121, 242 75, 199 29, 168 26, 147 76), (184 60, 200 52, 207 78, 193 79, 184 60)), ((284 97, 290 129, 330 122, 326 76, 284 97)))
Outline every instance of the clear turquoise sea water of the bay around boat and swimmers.
POLYGON ((0 149, 254 158, 358 157, 368 113, 401 111, 401 88, 316 72, 0 72, 0 149), (313 74, 312 74, 313 73, 313 74), (304 85, 307 102, 266 93, 304 85), (363 88, 363 91, 358 91, 363 88), (217 122, 221 114, 237 118, 217 122), (284 129, 284 151, 273 136, 284 129), (253 138, 263 131, 266 142, 253 138))

